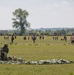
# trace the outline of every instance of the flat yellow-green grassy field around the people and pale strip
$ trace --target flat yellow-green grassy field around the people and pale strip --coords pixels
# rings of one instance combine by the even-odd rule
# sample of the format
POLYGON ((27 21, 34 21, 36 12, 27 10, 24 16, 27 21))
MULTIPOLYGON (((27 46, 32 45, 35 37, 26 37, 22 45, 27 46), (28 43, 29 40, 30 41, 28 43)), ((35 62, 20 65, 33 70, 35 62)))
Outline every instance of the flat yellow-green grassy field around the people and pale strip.
MULTIPOLYGON (((37 37, 36 43, 30 40, 23 40, 23 36, 17 36, 14 44, 11 40, 4 40, 0 36, 0 47, 4 43, 9 45, 8 56, 22 57, 24 60, 48 60, 66 59, 74 61, 74 45, 70 44, 70 37, 67 42, 53 40, 53 36, 45 36, 44 40, 37 37)), ((74 64, 51 64, 51 65, 14 65, 0 64, 0 75, 74 75, 74 64)))

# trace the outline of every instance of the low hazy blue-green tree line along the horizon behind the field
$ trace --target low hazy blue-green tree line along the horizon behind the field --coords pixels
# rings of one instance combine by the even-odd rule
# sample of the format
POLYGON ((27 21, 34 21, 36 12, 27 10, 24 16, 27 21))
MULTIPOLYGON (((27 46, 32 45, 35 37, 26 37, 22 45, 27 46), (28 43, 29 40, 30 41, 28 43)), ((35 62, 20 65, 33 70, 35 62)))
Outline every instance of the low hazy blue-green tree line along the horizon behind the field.
MULTIPOLYGON (((23 35, 46 35, 46 36, 71 36, 74 33, 74 28, 62 28, 62 29, 56 29, 49 28, 49 29, 26 29, 25 33, 23 35)), ((20 35, 20 30, 0 30, 0 35, 20 35)))

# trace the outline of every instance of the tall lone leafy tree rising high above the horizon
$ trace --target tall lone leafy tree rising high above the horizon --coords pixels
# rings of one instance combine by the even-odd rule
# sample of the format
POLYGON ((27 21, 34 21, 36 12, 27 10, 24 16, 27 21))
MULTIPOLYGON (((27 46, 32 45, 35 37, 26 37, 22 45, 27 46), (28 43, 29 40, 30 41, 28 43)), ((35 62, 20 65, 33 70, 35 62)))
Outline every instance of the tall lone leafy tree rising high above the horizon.
POLYGON ((29 14, 26 10, 19 8, 13 12, 13 15, 13 27, 20 29, 20 35, 23 35, 26 31, 26 28, 30 27, 30 23, 26 20, 29 14))

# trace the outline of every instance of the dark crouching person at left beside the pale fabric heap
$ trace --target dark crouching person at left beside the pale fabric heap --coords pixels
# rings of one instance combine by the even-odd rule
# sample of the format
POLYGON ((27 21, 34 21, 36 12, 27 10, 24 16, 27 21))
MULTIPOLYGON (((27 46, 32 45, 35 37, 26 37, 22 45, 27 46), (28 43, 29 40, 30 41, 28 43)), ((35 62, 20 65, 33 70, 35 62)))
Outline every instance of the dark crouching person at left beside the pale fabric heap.
POLYGON ((7 60, 7 54, 9 52, 8 44, 4 44, 1 48, 1 60, 7 60))

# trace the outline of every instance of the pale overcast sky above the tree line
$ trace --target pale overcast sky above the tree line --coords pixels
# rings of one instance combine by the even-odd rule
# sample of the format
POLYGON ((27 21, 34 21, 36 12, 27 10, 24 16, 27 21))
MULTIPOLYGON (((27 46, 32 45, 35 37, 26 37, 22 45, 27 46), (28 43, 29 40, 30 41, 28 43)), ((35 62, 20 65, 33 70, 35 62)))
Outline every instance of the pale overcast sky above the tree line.
POLYGON ((27 10, 31 28, 74 27, 74 0, 0 0, 0 29, 12 29, 12 12, 27 10))

